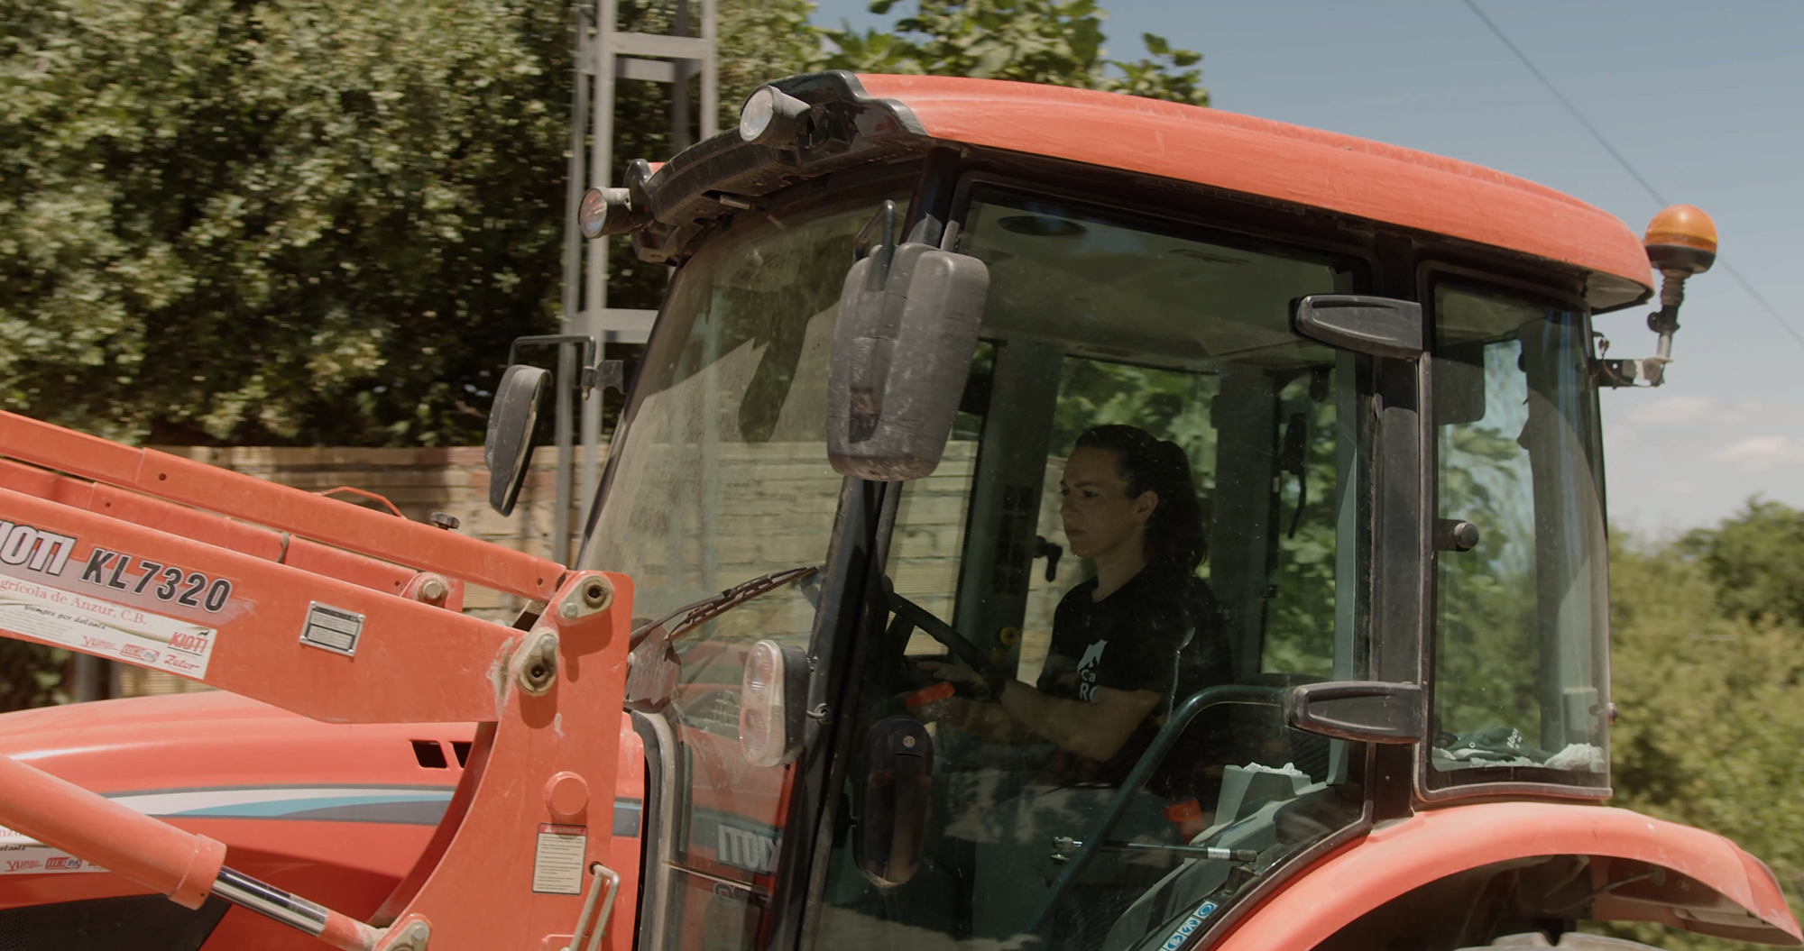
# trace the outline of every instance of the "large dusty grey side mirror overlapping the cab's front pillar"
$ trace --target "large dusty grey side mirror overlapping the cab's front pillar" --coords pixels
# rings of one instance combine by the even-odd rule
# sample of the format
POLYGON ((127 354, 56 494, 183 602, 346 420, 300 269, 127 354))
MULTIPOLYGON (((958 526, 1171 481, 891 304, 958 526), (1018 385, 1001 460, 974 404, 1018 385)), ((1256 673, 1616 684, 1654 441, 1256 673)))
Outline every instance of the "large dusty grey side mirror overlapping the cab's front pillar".
MULTIPOLYGON (((884 241, 839 295, 826 384, 826 454, 844 476, 920 479, 940 465, 965 391, 990 270, 969 254, 884 241)), ((875 223, 875 222, 873 222, 875 223)))

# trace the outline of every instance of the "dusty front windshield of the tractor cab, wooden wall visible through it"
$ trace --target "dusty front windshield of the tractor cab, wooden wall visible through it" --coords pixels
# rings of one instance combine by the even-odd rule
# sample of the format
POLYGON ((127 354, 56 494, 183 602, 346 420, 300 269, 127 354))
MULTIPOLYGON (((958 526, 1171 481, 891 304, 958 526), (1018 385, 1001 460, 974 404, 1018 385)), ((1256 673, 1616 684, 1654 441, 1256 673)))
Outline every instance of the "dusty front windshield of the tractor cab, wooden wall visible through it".
MULTIPOLYGON (((879 202, 758 218, 676 274, 583 562, 633 576, 635 625, 826 560, 842 485, 826 461, 826 367, 853 236, 879 202)), ((673 643, 662 713, 684 796, 664 874, 682 947, 752 947, 763 926, 790 771, 740 751, 740 681, 754 641, 808 643, 815 602, 814 578, 790 584, 673 643)))

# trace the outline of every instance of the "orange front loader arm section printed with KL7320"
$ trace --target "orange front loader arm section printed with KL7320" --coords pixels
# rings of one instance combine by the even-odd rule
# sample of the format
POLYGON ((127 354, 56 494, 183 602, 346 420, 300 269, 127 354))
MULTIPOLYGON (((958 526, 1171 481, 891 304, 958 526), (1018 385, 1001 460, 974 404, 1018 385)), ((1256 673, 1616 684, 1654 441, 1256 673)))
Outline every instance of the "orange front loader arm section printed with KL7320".
POLYGON ((4 488, 0 526, 36 533, 18 564, 0 542, 0 630, 319 720, 492 720, 523 636, 4 488))

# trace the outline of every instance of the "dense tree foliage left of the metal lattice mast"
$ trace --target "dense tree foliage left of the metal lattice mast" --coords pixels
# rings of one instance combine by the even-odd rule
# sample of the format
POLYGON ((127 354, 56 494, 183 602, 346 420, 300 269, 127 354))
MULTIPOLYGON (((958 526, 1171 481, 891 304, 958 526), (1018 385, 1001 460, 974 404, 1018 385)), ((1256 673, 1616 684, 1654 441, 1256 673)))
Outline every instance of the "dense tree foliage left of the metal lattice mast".
POLYGON ((0 2, 0 405, 124 438, 480 438, 550 326, 566 11, 0 2))

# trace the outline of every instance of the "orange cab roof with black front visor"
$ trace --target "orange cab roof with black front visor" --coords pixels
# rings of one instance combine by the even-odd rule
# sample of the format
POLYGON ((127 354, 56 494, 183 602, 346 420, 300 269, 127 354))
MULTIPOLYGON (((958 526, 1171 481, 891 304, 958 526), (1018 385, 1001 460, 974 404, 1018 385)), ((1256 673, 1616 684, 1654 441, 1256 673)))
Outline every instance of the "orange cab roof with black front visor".
POLYGON ((1393 229, 1503 249, 1582 272, 1593 308, 1651 294, 1647 252, 1609 213, 1470 162, 1216 108, 1109 92, 940 76, 823 72, 772 83, 810 106, 788 148, 738 131, 628 187, 649 222, 640 256, 682 258, 714 220, 792 184, 934 146, 974 146, 1189 182, 1393 229))

